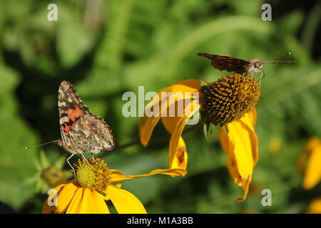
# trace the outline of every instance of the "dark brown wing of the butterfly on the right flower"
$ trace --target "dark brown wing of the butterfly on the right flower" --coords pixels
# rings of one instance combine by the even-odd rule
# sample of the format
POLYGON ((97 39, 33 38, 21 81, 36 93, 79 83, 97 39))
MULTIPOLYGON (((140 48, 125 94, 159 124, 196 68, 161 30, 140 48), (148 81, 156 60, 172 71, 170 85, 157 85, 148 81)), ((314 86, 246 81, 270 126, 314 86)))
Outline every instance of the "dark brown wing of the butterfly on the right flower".
POLYGON ((219 56, 208 53, 198 53, 198 56, 203 56, 212 61, 212 66, 220 71, 232 71, 235 73, 248 73, 248 68, 251 63, 240 58, 230 56, 219 56))

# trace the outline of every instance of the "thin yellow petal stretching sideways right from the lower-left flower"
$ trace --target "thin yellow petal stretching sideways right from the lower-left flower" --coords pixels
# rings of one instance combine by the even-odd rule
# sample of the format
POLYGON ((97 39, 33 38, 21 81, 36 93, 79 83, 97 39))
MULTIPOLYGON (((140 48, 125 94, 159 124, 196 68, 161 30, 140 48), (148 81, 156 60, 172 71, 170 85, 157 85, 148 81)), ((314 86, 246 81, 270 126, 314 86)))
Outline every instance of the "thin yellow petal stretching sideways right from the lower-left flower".
POLYGON ((156 174, 170 175, 172 177, 185 176, 185 174, 186 174, 186 171, 182 170, 182 169, 153 170, 153 171, 148 172, 143 175, 122 175, 121 172, 119 172, 118 170, 110 170, 110 171, 112 173, 111 174, 111 183, 113 185, 117 184, 118 182, 122 182, 123 180, 148 177, 148 176, 156 175, 156 174))

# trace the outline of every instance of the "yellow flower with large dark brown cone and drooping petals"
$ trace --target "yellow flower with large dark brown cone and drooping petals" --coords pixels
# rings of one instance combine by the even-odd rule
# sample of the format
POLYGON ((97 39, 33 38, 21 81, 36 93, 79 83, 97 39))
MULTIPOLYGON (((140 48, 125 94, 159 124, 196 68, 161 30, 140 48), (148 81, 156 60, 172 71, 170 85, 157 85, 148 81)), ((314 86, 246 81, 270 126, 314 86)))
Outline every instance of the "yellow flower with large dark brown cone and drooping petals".
POLYGON ((153 128, 162 120, 169 133, 169 167, 185 169, 188 153, 181 137, 186 122, 200 110, 200 113, 216 125, 220 143, 228 156, 227 166, 234 182, 243 188, 243 195, 238 202, 243 201, 248 195, 248 189, 253 174, 253 167, 258 162, 258 138, 254 127, 256 122, 255 105, 260 97, 260 86, 257 79, 248 75, 235 73, 220 78, 213 83, 201 86, 199 80, 185 80, 163 88, 158 97, 151 100, 146 109, 151 110, 158 105, 158 115, 141 118, 139 136, 143 146, 148 145, 153 128), (163 104, 163 92, 171 92, 169 103, 163 104), (190 93, 178 96, 178 93, 190 93), (195 94, 199 93, 199 100, 195 94), (191 98, 191 99, 190 99, 191 98), (188 100, 182 116, 162 117, 172 105, 178 105, 180 100, 188 100), (185 112, 188 110, 188 112, 185 112))

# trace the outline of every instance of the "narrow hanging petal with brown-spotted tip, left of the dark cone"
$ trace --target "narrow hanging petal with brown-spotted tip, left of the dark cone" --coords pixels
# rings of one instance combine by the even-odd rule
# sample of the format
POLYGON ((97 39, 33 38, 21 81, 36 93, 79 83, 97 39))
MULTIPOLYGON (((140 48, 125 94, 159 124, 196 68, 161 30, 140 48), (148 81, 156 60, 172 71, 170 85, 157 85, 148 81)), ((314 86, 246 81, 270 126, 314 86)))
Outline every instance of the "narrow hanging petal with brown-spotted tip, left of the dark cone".
MULTIPOLYGON (((186 146, 183 138, 180 137, 183 133, 183 129, 187 123, 187 121, 200 109, 199 100, 193 100, 188 103, 184 109, 184 115, 178 121, 177 125, 173 129, 172 135, 170 136, 170 145, 169 145, 169 167, 184 167, 186 168, 187 159, 185 160, 185 151, 186 146), (184 149, 184 150, 183 150, 184 149), (183 152, 182 152, 183 151, 183 152), (173 163, 175 158, 179 158, 177 162, 173 163), (182 160, 184 158, 184 160, 182 160)), ((187 155, 187 153, 186 153, 187 155)), ((186 156, 187 158, 187 156, 186 156)))

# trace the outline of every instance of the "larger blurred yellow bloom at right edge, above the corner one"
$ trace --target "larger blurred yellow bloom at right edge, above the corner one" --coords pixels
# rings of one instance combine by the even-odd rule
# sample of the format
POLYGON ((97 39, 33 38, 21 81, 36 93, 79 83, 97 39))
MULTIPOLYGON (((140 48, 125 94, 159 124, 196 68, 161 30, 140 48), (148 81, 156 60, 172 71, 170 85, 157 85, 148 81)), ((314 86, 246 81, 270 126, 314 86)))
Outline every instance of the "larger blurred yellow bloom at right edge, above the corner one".
POLYGON ((302 151, 298 169, 304 172, 303 188, 310 190, 321 180, 321 140, 320 138, 311 138, 305 149, 302 151))

